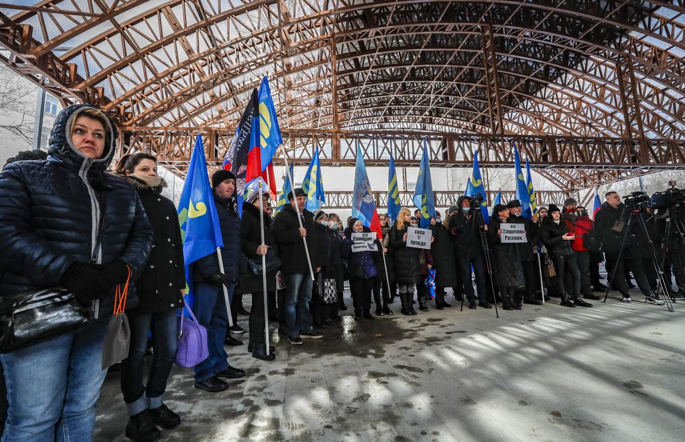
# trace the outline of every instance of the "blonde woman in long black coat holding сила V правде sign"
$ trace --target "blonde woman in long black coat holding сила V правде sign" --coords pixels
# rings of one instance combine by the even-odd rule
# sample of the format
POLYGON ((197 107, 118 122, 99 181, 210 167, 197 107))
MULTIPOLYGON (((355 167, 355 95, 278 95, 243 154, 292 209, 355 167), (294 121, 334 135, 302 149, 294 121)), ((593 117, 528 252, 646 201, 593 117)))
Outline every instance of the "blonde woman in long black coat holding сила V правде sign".
POLYGON ((399 287, 403 315, 416 315, 412 305, 414 286, 421 281, 419 249, 407 247, 407 229, 411 220, 412 213, 409 209, 401 209, 397 215, 397 222, 390 229, 390 250, 393 250, 395 281, 399 287))

